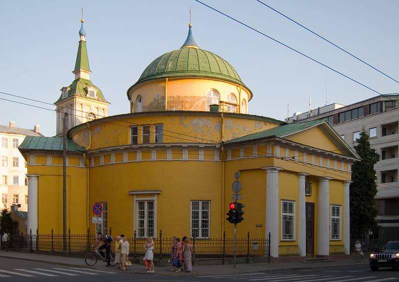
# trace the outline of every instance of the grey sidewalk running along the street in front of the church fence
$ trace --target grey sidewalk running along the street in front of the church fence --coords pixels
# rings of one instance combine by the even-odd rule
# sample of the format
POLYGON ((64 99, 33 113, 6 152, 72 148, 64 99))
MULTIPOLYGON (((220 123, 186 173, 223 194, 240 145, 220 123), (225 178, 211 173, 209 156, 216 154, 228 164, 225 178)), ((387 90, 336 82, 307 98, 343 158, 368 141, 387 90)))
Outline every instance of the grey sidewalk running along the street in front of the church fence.
MULTIPOLYGON (((50 255, 38 255, 21 252, 4 252, 0 251, 0 258, 25 260, 41 263, 49 263, 56 265, 63 265, 69 267, 82 267, 82 268, 93 268, 103 271, 118 271, 117 267, 106 267, 104 262, 98 262, 95 266, 89 267, 85 264, 82 258, 68 258, 50 255)), ((322 262, 322 263, 253 263, 253 264, 237 264, 236 268, 233 265, 207 265, 207 266, 194 266, 193 273, 175 273, 170 272, 169 267, 156 267, 155 271, 157 274, 165 275, 224 275, 224 274, 244 274, 244 273, 256 273, 256 272, 267 272, 267 271, 287 271, 287 270, 303 270, 303 269, 314 269, 314 268, 328 268, 334 266, 357 266, 369 264, 369 259, 364 258, 360 263, 356 262, 356 259, 339 260, 333 262, 322 262)), ((128 268, 127 273, 134 274, 145 274, 144 266, 133 264, 128 268)))

